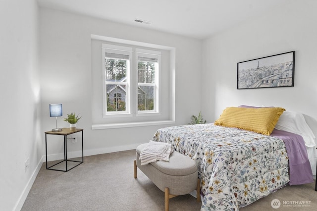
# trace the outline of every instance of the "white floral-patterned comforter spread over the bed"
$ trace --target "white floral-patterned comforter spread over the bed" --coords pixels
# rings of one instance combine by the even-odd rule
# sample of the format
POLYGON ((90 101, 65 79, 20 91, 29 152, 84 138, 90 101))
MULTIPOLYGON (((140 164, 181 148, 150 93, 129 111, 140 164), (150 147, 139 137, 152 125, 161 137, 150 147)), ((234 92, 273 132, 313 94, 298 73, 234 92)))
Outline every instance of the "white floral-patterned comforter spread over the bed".
POLYGON ((211 123, 161 128, 153 140, 197 162, 202 211, 237 211, 289 182, 285 144, 276 137, 211 123))

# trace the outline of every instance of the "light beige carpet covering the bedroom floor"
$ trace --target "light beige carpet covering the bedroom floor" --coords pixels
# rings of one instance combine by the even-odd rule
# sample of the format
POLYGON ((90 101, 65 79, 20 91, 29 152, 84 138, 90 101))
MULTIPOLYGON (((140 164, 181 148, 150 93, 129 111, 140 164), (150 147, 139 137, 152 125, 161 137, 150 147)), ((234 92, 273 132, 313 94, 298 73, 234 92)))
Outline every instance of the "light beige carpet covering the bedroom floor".
MULTIPOLYGON (((164 193, 138 169, 135 150, 84 157, 68 172, 47 170, 44 163, 22 211, 163 211, 164 193)), ((240 211, 316 211, 315 183, 286 186, 240 211), (272 200, 280 202, 278 209, 272 200), (306 204, 305 206, 303 204, 306 204), (276 206, 275 206, 276 207, 276 206)), ((275 203, 277 205, 277 203, 275 203)), ((199 211, 191 195, 170 199, 170 211, 199 211)))

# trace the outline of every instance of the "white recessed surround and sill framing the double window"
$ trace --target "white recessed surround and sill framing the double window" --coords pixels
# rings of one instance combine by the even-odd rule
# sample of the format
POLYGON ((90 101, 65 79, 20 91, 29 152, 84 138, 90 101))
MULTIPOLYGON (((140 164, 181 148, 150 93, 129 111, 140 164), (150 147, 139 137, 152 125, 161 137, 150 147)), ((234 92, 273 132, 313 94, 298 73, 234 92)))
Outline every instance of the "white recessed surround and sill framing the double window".
MULTIPOLYGON (((118 39, 113 37, 106 37, 100 35, 91 35, 92 46, 92 129, 109 129, 109 128, 124 128, 124 127, 143 127, 143 126, 159 126, 175 124, 175 102, 176 102, 176 48, 172 46, 159 45, 148 42, 137 42, 131 40, 118 39), (107 115, 106 118, 103 114, 106 106, 103 106, 103 89, 102 87, 102 72, 103 68, 101 47, 102 44, 108 43, 115 46, 129 46, 133 48, 144 48, 151 50, 161 51, 160 62, 160 111, 159 113, 152 114, 136 114, 140 116, 128 116, 124 115, 107 115), (100 44, 98 47, 98 44, 100 44), (100 58, 97 59, 97 58, 100 58), (162 100, 164 104, 162 104, 162 100), (145 116, 141 116, 145 115, 145 116), (149 116, 148 116, 149 115, 149 116), (112 117, 112 118, 111 118, 112 117)), ((132 62, 131 62, 132 63, 132 62)), ((130 63, 130 64, 131 64, 130 63)), ((135 64, 132 64, 135 65, 135 64)), ((135 75, 130 75, 132 80, 135 80, 135 75)), ((135 87, 130 87, 135 89, 135 87)), ((132 93, 131 93, 132 94, 132 93)), ((132 97, 133 99, 134 97, 132 97)), ((132 106, 135 105, 135 101, 132 101, 132 106)), ((127 114, 129 115, 129 114, 127 114)))

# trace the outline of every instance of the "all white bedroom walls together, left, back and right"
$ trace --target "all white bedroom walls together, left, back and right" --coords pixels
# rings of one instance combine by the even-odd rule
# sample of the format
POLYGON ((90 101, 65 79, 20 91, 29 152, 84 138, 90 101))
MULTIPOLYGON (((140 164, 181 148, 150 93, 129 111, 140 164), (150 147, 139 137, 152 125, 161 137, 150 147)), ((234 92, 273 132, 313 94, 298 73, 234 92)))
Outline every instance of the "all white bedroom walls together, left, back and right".
MULTIPOLYGON (((62 103, 64 117, 73 111, 83 116, 78 127, 84 128, 85 155, 132 149, 165 127, 91 129, 91 34, 176 48, 176 125, 187 124, 200 110, 212 122, 225 107, 240 104, 281 106, 306 114, 316 124, 316 8, 314 0, 292 0, 202 43, 45 8, 38 17, 35 0, 0 1, 0 210, 19 210, 33 183, 45 155, 44 131, 55 124, 50 103, 62 103), (237 62, 292 50, 294 87, 236 89, 237 62), (25 172, 27 158, 30 168, 25 172)), ((62 118, 58 126, 68 127, 62 118)))

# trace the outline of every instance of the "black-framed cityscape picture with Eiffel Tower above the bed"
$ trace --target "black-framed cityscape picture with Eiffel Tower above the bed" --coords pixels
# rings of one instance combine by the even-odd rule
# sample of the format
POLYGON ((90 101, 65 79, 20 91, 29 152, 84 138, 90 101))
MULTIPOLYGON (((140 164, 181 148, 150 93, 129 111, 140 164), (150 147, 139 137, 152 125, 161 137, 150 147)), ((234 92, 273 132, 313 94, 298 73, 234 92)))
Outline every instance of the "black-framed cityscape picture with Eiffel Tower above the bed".
POLYGON ((238 63, 237 89, 294 86, 295 51, 238 63))

